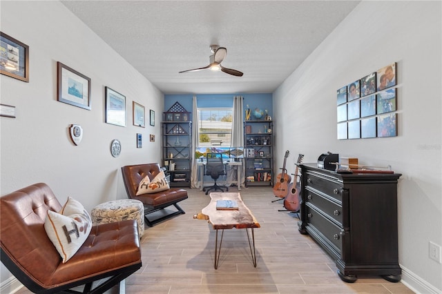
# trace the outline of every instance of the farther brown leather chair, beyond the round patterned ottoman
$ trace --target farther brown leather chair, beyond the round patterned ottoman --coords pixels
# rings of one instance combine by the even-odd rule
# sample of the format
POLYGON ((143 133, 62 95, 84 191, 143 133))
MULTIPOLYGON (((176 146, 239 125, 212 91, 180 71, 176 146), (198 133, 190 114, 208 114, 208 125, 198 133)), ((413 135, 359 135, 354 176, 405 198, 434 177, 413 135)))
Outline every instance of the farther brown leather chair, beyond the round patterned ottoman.
POLYGON ((149 179, 154 179, 158 173, 161 172, 160 164, 135 164, 132 166, 123 166, 122 175, 124 186, 129 198, 137 199, 144 204, 144 219, 148 226, 153 226, 164 219, 169 219, 174 215, 185 213, 184 210, 177 204, 184 199, 187 199, 187 191, 180 188, 170 188, 157 193, 136 195, 138 184, 148 175, 149 179), (168 206, 175 206, 177 211, 168 213, 156 219, 148 219, 147 215, 157 210, 162 210, 168 206))

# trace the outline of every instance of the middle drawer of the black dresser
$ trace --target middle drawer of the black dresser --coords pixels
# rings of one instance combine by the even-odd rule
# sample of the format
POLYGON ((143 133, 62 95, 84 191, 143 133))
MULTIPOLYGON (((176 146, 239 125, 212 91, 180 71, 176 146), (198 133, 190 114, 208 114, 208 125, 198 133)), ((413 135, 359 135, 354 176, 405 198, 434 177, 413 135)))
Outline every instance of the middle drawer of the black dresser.
POLYGON ((343 226, 343 207, 340 202, 336 202, 336 199, 329 197, 329 195, 320 195, 308 186, 305 190, 307 202, 322 210, 323 213, 334 219, 339 226, 343 226))

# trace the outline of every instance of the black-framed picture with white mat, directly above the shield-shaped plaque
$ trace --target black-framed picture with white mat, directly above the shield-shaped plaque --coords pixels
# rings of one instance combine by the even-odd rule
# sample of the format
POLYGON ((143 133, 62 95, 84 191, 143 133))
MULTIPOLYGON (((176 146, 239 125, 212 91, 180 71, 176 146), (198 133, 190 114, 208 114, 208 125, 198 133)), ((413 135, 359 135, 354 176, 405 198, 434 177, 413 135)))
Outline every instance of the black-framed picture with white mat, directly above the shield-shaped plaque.
POLYGON ((57 62, 58 101, 90 110, 90 79, 57 62))

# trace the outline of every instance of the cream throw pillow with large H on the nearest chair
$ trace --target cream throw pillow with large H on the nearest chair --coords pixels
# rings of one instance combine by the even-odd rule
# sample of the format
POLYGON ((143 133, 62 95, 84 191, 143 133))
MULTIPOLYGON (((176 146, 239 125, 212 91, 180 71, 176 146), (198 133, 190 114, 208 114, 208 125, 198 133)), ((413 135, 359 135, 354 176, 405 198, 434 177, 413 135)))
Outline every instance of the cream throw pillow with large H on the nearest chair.
POLYGON ((68 197, 59 213, 48 210, 44 228, 63 263, 66 263, 86 241, 92 228, 92 219, 81 203, 68 197))

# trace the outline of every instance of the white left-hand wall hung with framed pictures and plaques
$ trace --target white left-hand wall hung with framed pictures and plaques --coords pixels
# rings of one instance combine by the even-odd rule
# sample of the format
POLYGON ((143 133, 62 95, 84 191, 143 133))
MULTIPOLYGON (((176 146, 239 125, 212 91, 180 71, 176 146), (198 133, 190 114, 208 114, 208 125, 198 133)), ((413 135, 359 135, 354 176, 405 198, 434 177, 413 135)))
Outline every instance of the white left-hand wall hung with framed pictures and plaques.
MULTIPOLYGON (((1 195, 46 182, 64 203, 78 199, 90 211, 111 199, 126 198, 119 168, 160 162, 162 93, 117 55, 59 1, 1 1, 1 31, 30 47, 30 82, 1 75, 1 104, 15 106, 17 118, 0 118, 1 195), (57 61, 90 77, 92 110, 57 101, 57 61), (126 96, 126 127, 104 123, 104 87, 126 96), (155 127, 133 126, 132 101, 155 110, 155 127), (75 146, 70 124, 84 137, 75 146), (143 148, 136 148, 136 133, 143 148), (155 143, 148 135, 156 135, 155 143), (113 139, 122 143, 111 156, 113 139)), ((1 282, 10 274, 1 264, 1 282)), ((8 289, 2 289, 8 291, 8 289)))

